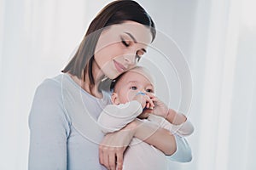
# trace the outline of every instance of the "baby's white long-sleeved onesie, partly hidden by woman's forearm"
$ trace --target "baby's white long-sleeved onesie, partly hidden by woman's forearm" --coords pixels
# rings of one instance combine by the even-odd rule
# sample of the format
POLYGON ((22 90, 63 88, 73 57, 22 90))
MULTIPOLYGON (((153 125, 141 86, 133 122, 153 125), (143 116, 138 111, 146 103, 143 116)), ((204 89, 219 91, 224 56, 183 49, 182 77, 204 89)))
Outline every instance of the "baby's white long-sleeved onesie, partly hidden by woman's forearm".
MULTIPOLYGON (((142 112, 142 105, 137 100, 126 104, 107 105, 98 117, 97 122, 104 133, 113 133, 132 122, 142 112)), ((187 136, 194 131, 194 127, 189 121, 183 122, 181 125, 173 125, 171 122, 167 122, 165 118, 153 114, 150 114, 147 119, 143 119, 143 122, 153 122, 178 136, 187 136)), ((133 138, 129 147, 125 150, 123 169, 165 170, 168 169, 168 164, 162 151, 140 139, 133 138)))

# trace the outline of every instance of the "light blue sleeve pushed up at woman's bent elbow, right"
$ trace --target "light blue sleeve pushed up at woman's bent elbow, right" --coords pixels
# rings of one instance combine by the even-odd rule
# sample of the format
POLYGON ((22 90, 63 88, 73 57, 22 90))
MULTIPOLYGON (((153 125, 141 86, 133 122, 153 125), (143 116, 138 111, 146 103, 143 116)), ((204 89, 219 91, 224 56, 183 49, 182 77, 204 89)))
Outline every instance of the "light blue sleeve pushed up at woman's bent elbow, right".
POLYGON ((178 135, 174 135, 176 139, 176 152, 172 156, 166 156, 168 160, 179 161, 179 162, 189 162, 192 160, 192 152, 188 141, 178 135))

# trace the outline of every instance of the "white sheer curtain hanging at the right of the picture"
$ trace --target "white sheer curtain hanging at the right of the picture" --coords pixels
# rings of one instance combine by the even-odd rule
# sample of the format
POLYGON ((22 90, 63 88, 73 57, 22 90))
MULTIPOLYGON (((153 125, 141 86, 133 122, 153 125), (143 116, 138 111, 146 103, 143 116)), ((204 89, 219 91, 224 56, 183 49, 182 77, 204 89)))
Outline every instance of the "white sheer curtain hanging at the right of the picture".
POLYGON ((201 84, 195 87, 198 107, 191 111, 193 119, 200 119, 196 169, 255 169, 255 3, 211 1, 209 8, 203 3, 198 3, 191 59, 195 86, 201 84))

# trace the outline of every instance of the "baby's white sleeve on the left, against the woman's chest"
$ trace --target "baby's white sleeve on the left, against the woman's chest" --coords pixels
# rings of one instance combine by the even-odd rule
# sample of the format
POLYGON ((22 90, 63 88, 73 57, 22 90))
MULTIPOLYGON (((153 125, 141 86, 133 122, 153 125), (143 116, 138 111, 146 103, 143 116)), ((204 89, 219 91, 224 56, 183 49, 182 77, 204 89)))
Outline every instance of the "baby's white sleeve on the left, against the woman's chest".
POLYGON ((107 105, 98 117, 98 124, 104 133, 113 133, 125 127, 143 112, 137 100, 120 105, 107 105))

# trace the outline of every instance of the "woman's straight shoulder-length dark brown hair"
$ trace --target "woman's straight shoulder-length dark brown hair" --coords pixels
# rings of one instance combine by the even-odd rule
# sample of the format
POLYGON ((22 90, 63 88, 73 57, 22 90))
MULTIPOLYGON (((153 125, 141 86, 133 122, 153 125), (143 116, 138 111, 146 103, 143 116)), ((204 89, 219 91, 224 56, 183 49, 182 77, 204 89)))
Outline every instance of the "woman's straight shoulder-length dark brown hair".
POLYGON ((142 6, 131 0, 119 0, 108 3, 96 15, 96 18, 91 21, 76 54, 74 54, 73 59, 69 61, 62 72, 69 72, 73 76, 82 78, 82 71, 84 71, 83 79, 85 81, 85 72, 88 71, 90 84, 94 85, 95 80, 92 75, 92 63, 96 43, 102 33, 102 29, 106 26, 121 24, 126 20, 136 21, 144 26, 148 26, 152 33, 152 41, 154 41, 156 34, 154 22, 142 6))

